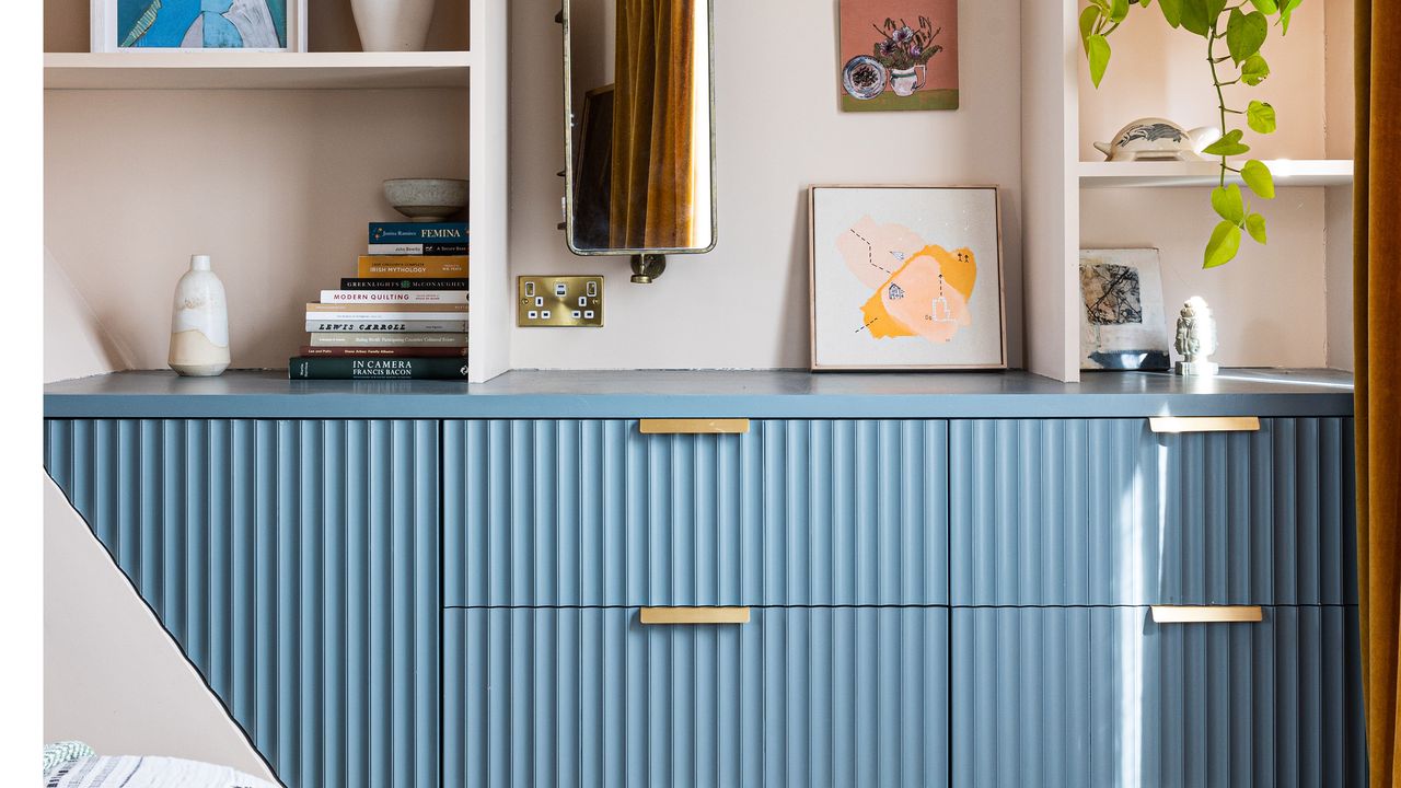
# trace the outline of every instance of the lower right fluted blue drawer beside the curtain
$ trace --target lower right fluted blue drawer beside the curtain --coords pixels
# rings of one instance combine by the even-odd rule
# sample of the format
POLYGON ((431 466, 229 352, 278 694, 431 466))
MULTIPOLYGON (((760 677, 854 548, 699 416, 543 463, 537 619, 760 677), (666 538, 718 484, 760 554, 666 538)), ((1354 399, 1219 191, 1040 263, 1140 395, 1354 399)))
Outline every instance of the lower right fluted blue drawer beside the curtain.
POLYGON ((1358 610, 954 609, 958 788, 1366 785, 1358 610))

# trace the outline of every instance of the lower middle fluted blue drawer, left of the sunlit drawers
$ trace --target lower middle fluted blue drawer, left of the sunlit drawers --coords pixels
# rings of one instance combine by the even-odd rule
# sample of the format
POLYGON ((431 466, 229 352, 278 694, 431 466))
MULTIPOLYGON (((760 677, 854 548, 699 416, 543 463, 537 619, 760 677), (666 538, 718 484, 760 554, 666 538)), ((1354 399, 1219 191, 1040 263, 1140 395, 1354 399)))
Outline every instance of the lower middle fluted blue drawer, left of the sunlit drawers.
POLYGON ((444 613, 451 788, 939 788, 948 609, 444 613))

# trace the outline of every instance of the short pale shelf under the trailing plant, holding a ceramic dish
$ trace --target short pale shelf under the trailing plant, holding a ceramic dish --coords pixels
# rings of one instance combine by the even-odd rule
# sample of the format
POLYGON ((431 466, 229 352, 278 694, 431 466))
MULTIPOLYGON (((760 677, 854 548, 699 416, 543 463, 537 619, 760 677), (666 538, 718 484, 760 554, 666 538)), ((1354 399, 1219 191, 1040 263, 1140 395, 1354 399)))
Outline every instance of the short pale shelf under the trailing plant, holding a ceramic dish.
MULTIPOLYGON (((1265 163, 1275 186, 1346 186, 1352 160, 1275 160, 1265 163)), ((1082 161, 1080 188, 1208 186, 1220 182, 1216 161, 1082 161)), ((1231 174, 1230 182, 1241 182, 1231 174)))

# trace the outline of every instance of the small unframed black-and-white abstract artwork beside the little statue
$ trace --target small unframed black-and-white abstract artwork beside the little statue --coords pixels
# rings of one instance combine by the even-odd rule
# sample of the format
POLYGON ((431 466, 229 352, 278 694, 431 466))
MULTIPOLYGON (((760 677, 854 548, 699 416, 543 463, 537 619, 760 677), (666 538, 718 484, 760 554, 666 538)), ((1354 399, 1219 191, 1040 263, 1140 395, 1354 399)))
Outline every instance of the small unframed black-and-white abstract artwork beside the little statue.
POLYGON ((1171 369, 1157 250, 1080 250, 1080 369, 1171 369))

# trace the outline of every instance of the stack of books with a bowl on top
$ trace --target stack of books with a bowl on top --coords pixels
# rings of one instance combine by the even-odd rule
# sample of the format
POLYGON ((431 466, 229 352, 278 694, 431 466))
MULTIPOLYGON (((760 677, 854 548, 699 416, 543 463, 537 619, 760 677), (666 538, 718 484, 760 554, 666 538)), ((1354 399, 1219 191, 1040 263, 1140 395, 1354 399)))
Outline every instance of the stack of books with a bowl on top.
POLYGON ((467 223, 371 222, 368 254, 307 304, 293 380, 467 380, 467 223))

